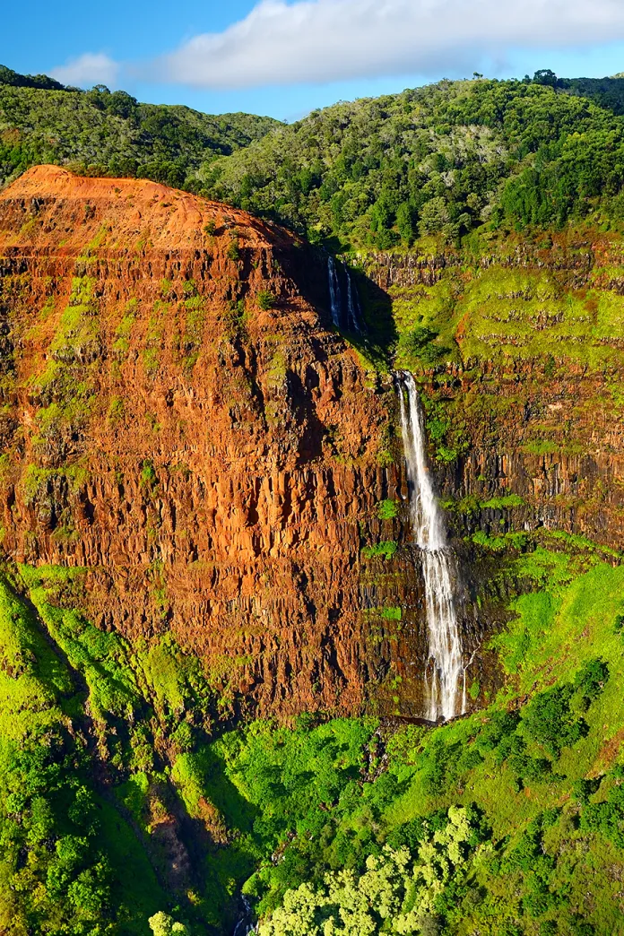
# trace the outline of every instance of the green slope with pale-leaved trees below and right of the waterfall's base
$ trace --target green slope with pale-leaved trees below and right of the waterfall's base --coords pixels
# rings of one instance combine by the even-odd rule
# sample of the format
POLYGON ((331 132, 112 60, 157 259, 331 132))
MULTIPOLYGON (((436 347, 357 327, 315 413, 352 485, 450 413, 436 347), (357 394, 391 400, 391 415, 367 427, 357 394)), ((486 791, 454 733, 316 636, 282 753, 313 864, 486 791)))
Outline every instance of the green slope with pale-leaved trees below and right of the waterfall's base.
POLYGON ((515 565, 535 591, 515 599, 496 641, 507 684, 479 714, 389 735, 259 724, 211 746, 225 822, 265 842, 245 890, 285 908, 261 932, 343 931, 344 914, 347 932, 624 928, 624 571, 544 548, 515 565))

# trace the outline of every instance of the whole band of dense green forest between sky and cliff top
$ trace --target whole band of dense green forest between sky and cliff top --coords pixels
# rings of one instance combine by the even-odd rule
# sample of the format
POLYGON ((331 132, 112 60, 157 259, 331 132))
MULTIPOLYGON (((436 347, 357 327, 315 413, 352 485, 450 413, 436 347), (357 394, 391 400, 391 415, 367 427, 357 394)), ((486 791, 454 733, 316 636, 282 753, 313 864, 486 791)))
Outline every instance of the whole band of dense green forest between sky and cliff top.
POLYGON ((312 241, 389 249, 475 227, 624 218, 624 79, 441 81, 283 125, 0 68, 0 183, 59 163, 231 202, 312 241))

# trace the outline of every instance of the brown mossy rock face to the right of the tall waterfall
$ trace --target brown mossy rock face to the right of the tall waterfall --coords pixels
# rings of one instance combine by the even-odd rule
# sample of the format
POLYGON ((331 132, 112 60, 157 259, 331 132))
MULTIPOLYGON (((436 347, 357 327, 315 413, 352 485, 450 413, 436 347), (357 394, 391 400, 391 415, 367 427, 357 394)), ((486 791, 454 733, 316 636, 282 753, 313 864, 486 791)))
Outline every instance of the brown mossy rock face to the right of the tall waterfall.
POLYGON ((438 466, 440 490, 465 502, 457 533, 544 528, 622 548, 620 239, 581 232, 478 258, 375 254, 365 267, 403 306, 446 303, 462 359, 431 370, 427 396, 457 453, 438 466))

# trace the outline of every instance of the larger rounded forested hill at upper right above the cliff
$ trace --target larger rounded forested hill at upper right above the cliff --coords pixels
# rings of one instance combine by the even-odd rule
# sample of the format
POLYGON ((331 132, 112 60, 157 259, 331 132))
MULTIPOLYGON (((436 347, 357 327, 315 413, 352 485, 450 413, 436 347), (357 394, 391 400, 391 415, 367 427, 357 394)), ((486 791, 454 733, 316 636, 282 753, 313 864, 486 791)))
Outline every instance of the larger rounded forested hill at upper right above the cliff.
POLYGON ((622 220, 624 80, 463 80, 340 103, 203 166, 207 194, 344 246, 622 220), (545 83, 544 83, 545 82, 545 83))

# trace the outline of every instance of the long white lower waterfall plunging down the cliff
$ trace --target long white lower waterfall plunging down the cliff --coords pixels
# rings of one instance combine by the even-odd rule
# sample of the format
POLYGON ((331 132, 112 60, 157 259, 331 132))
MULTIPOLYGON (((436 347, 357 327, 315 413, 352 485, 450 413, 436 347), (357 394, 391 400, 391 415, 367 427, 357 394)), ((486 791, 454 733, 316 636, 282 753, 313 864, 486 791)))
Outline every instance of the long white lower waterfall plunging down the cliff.
MULTIPOLYGON (((421 549, 429 637, 427 718, 447 721, 457 714, 459 680, 465 670, 453 596, 456 563, 446 542, 443 517, 428 472, 422 407, 414 377, 399 373, 400 424, 410 488, 410 514, 414 537, 421 549), (405 389, 405 393, 403 392, 405 389), (405 397, 407 396, 407 401, 405 397)), ((427 680, 427 677, 426 677, 427 680)), ((466 709, 462 693, 461 711, 466 709)))

